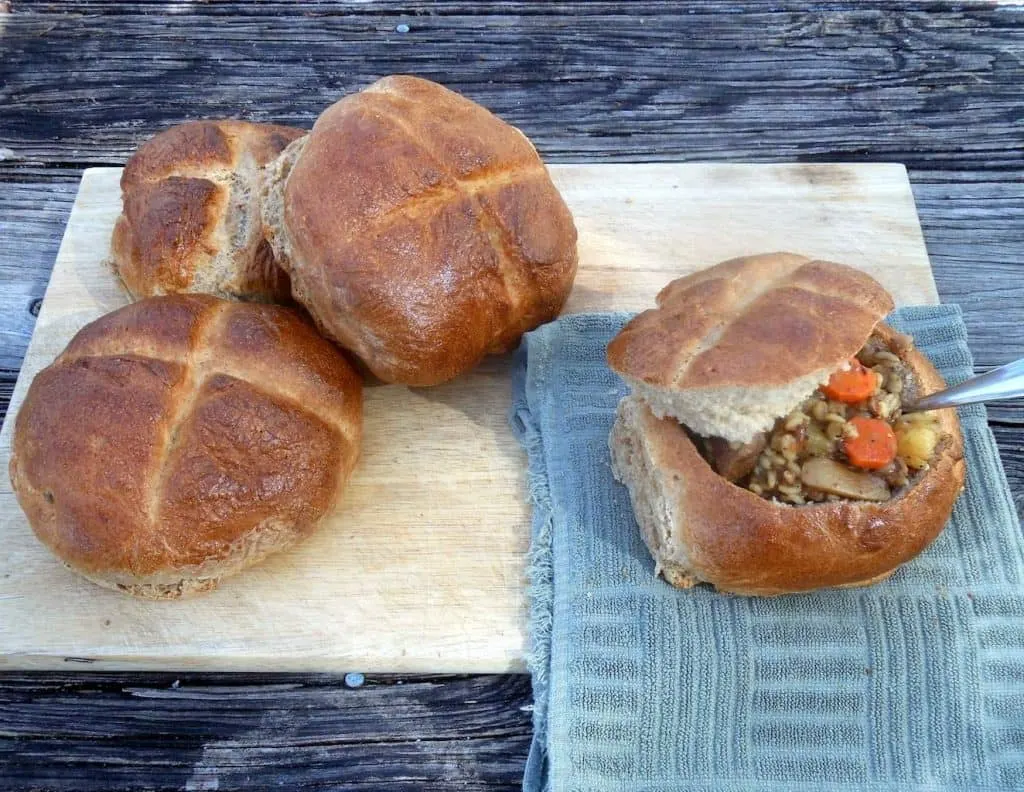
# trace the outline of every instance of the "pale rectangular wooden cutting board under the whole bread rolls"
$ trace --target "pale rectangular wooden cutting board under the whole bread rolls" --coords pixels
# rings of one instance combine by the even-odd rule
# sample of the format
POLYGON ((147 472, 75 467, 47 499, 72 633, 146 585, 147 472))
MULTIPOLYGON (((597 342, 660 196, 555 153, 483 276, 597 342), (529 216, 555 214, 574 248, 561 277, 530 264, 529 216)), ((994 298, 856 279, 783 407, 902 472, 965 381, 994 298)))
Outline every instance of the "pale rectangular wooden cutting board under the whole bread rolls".
MULTIPOLYGON (((641 309, 667 282, 793 250, 937 302, 899 165, 561 165, 580 230, 568 311, 641 309)), ((102 265, 120 170, 82 178, 11 402, 87 322, 127 299, 102 265)), ((212 594, 148 602, 69 572, 0 476, 0 668, 522 670, 525 457, 506 422, 510 361, 433 388, 368 389, 366 446, 312 539, 212 594)), ((0 434, 6 470, 13 420, 0 434)))

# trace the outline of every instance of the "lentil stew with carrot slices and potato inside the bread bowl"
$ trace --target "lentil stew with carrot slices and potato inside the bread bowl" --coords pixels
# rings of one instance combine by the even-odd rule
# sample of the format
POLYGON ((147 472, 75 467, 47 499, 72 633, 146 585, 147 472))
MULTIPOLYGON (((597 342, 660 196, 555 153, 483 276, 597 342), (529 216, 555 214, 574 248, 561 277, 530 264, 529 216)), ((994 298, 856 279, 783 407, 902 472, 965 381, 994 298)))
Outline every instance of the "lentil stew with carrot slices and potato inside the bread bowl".
POLYGON ((932 413, 902 412, 916 381, 878 334, 771 430, 746 444, 701 439, 720 474, 771 500, 884 501, 928 469, 942 432, 932 413))

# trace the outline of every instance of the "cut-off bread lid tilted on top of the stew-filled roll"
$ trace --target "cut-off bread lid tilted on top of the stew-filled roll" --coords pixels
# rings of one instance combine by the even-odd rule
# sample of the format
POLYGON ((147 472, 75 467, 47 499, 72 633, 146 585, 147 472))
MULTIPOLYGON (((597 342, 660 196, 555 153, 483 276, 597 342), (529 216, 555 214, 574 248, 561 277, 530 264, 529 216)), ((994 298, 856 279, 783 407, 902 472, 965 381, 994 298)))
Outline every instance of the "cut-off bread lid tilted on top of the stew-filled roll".
POLYGON ((607 359, 658 417, 745 443, 827 381, 892 308, 882 285, 853 267, 743 256, 666 286, 607 359))

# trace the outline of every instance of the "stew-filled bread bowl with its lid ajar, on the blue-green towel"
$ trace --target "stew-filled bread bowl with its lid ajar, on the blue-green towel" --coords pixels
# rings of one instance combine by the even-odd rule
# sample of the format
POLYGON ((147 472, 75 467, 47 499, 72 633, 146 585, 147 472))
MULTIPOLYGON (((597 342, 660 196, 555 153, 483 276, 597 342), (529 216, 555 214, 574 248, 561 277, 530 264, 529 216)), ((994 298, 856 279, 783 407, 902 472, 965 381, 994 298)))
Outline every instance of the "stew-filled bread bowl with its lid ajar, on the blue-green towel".
POLYGON ((768 254, 680 279, 658 304, 609 344, 634 390, 610 446, 669 582, 864 585, 941 532, 964 486, 958 421, 902 414, 904 395, 944 383, 882 323, 892 302, 879 284, 768 254))

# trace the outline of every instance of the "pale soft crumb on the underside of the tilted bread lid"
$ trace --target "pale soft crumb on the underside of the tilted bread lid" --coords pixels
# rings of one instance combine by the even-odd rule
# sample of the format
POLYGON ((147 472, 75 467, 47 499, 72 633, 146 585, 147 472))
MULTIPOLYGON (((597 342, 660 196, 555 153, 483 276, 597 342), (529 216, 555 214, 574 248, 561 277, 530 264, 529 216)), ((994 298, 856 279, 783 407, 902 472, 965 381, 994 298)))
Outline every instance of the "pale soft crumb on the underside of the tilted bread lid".
POLYGON ((658 418, 672 417, 705 436, 749 443, 778 418, 796 410, 828 381, 836 366, 798 377, 781 387, 720 387, 675 390, 627 378, 633 392, 658 418))

